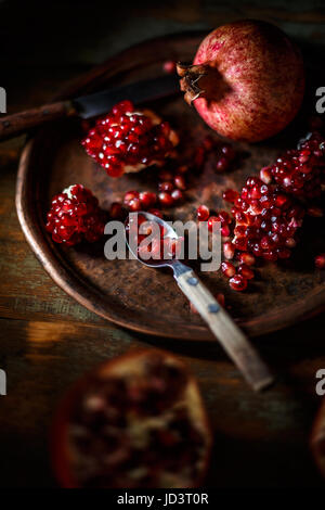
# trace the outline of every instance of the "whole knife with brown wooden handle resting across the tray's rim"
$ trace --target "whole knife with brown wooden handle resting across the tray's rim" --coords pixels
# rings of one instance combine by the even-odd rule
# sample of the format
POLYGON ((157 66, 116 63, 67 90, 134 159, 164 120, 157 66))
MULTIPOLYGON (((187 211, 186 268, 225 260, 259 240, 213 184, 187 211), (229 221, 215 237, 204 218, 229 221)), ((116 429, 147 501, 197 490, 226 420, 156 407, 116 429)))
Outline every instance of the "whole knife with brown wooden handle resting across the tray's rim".
POLYGON ((178 91, 178 78, 169 75, 123 85, 89 95, 81 95, 73 100, 46 104, 5 117, 0 116, 0 140, 15 137, 37 126, 63 117, 79 116, 81 118, 91 118, 103 115, 107 113, 114 104, 123 99, 129 99, 138 105, 167 98, 178 91))

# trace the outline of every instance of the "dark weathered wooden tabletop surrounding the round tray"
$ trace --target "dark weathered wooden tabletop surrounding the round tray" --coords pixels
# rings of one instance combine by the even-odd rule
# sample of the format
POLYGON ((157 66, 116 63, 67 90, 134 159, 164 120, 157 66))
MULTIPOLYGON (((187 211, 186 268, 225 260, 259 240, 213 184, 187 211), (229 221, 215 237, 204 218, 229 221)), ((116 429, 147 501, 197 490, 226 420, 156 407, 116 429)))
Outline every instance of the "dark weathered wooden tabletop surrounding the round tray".
MULTIPOLYGON (((1 1, 0 86, 8 112, 51 100, 67 81, 139 41, 245 17, 275 23, 324 62, 321 0, 1 1)), ((0 143, 0 368, 9 374, 9 394, 0 397, 0 485, 49 487, 55 486, 49 424, 72 374, 90 368, 90 352, 101 361, 155 340, 93 316, 35 259, 14 207, 23 143, 24 137, 0 143)), ((266 397, 252 395, 222 353, 217 361, 211 347, 159 342, 190 365, 216 423, 220 415, 210 485, 324 486, 308 448, 321 403, 314 373, 325 367, 324 317, 257 339, 280 374, 266 397), (211 387, 216 371, 223 383, 211 387)))

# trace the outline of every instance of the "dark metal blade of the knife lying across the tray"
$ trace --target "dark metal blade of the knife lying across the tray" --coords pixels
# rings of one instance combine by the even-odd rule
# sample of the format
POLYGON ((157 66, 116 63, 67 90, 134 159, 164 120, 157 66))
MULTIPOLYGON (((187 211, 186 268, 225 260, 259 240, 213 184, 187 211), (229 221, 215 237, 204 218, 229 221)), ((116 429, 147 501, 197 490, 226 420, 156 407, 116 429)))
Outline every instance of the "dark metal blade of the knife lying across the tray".
POLYGON ((91 118, 107 113, 123 99, 141 104, 172 95, 178 91, 180 91, 179 79, 176 76, 162 76, 81 95, 73 100, 73 104, 81 118, 91 118))

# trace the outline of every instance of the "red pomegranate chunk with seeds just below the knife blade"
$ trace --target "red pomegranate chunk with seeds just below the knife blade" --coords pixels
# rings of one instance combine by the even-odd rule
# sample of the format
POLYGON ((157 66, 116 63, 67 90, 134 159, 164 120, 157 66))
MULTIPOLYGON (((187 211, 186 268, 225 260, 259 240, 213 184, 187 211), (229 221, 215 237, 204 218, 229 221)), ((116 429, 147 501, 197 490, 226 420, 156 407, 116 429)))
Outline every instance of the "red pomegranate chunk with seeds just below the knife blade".
POLYGON ((120 177, 164 164, 178 142, 169 123, 150 110, 136 111, 131 101, 126 100, 99 118, 81 143, 108 176, 120 177))

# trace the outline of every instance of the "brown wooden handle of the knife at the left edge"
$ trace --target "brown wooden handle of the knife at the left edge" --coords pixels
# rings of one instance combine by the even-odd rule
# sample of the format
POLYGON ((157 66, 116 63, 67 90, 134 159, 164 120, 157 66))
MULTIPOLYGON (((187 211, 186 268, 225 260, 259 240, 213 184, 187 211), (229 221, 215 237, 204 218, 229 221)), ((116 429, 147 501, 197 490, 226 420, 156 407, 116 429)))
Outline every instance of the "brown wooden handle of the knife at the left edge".
POLYGON ((76 114, 72 101, 60 101, 5 117, 0 116, 0 140, 15 137, 44 123, 76 114))

